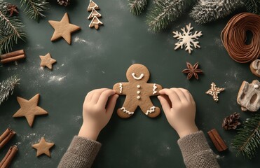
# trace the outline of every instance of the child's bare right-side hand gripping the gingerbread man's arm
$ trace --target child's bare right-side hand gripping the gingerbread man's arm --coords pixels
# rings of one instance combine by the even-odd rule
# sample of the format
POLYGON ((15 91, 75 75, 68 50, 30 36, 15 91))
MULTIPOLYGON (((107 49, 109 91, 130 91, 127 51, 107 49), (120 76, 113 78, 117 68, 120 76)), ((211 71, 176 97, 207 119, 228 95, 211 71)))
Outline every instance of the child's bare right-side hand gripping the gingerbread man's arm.
POLYGON ((182 88, 160 90, 160 104, 170 125, 182 138, 198 131, 195 124, 196 104, 190 92, 182 88))

